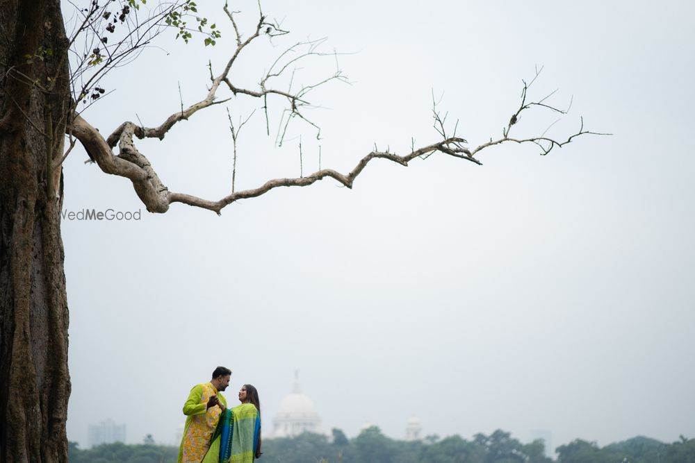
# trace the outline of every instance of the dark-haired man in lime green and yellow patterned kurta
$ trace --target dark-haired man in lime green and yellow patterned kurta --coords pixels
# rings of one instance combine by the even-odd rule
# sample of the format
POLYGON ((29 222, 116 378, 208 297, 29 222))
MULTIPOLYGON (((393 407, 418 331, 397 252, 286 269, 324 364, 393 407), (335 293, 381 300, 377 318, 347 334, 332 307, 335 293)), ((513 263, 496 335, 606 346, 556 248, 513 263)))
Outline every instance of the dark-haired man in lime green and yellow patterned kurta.
POLYGON ((227 389, 230 378, 230 369, 217 367, 210 382, 190 389, 188 399, 183 404, 186 426, 183 428, 178 463, 199 463, 205 457, 220 413, 227 408, 227 399, 220 392, 227 389))

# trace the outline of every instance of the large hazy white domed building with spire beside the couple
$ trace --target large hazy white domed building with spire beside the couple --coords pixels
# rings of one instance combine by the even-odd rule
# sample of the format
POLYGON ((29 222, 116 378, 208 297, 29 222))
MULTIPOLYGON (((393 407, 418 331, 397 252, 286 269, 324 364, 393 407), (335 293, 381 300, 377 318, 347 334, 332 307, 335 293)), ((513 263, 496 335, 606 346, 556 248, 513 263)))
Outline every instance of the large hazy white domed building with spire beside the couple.
POLYGON ((311 398, 302 394, 297 372, 292 392, 282 399, 272 423, 272 437, 294 437, 302 432, 322 433, 321 418, 311 398))

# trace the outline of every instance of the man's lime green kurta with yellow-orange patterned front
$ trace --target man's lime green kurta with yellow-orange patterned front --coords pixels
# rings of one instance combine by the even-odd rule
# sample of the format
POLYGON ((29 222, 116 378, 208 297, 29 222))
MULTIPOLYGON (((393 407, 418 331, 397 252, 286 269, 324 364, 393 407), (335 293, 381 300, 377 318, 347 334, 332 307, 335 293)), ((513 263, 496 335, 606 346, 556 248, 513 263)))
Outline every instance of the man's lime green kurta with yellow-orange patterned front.
POLYGON ((183 404, 186 426, 179 449, 179 463, 199 463, 203 460, 210 446, 210 438, 220 419, 220 407, 206 409, 210 396, 217 395, 220 402, 227 407, 227 400, 211 383, 194 386, 190 389, 188 400, 183 404))

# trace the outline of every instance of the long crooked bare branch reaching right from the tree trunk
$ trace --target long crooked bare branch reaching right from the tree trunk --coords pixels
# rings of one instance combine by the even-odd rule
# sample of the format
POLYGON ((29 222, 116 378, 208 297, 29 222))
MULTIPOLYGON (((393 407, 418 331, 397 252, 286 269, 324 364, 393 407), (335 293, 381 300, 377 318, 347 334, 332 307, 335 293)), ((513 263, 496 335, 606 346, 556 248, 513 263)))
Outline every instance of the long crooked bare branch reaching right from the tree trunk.
MULTIPOLYGON (((548 127, 548 129, 546 129, 546 131, 540 136, 511 137, 509 135, 512 130, 512 126, 517 124, 524 111, 532 108, 538 108, 550 112, 557 112, 561 115, 564 115, 567 112, 567 110, 560 110, 548 103, 548 100, 551 96, 553 96, 553 94, 555 94, 555 92, 551 92, 550 94, 543 96, 541 99, 528 101, 528 91, 541 73, 541 68, 536 69, 536 74, 530 83, 523 81, 521 104, 516 112, 514 112, 512 115, 512 118, 509 119, 507 126, 502 129, 502 137, 498 140, 490 139, 489 142, 480 144, 475 149, 469 149, 466 146, 468 142, 464 138, 457 136, 458 121, 456 121, 454 124, 452 132, 448 130, 448 113, 445 112, 443 115, 441 115, 441 112, 438 109, 439 101, 435 101, 434 92, 432 92, 432 117, 434 119, 434 128, 440 137, 439 142, 415 149, 414 140, 411 140, 411 151, 405 155, 391 153, 390 149, 386 149, 386 151, 379 151, 375 146, 375 149, 364 155, 363 158, 357 162, 357 165, 347 174, 341 174, 333 169, 321 169, 321 151, 319 147, 318 171, 310 174, 309 176, 304 176, 302 145, 300 138, 300 177, 271 179, 263 183, 263 185, 251 190, 236 191, 235 188, 237 137, 239 131, 243 125, 247 123, 251 116, 249 116, 243 122, 240 119, 238 127, 235 127, 232 123, 231 113, 229 113, 228 109, 227 114, 229 118, 229 127, 234 143, 234 165, 232 170, 231 193, 222 197, 221 199, 212 201, 183 192, 170 192, 158 178, 156 171, 154 171, 152 168, 149 160, 147 160, 145 155, 142 155, 142 153, 138 151, 133 137, 138 137, 140 139, 154 137, 162 140, 166 133, 172 130, 172 128, 179 121, 188 119, 189 117, 195 115, 195 113, 199 110, 229 101, 231 97, 221 101, 217 99, 220 85, 224 83, 231 91, 231 94, 233 95, 232 97, 236 98, 239 95, 245 95, 252 98, 263 99, 263 111, 265 112, 266 130, 268 133, 270 133, 268 121, 268 96, 280 96, 282 99, 286 99, 288 107, 284 110, 283 116, 278 124, 279 135, 277 138, 277 144, 279 145, 282 143, 282 140, 284 140, 289 122, 294 117, 303 119, 307 124, 315 127, 317 131, 319 131, 318 126, 302 114, 302 108, 311 108, 309 101, 306 99, 306 94, 311 92, 311 90, 315 89, 316 87, 325 85, 331 81, 346 81, 345 76, 343 76, 338 67, 332 76, 322 79, 317 83, 304 85, 297 91, 293 91, 292 89, 293 78, 290 78, 290 85, 288 86, 287 90, 277 90, 275 88, 266 86, 271 79, 277 78, 282 74, 289 72, 290 69, 293 69, 293 67, 295 67, 300 60, 304 60, 309 57, 337 56, 337 53, 323 53, 322 51, 319 51, 318 47, 323 44, 324 40, 314 40, 308 42, 298 42, 283 51, 277 60, 273 62, 270 69, 265 73, 265 76, 261 78, 259 87, 257 89, 250 90, 234 85, 229 75, 238 56, 240 56, 240 53, 242 53, 252 41, 256 40, 258 37, 261 37, 261 34, 268 35, 272 38, 276 37, 277 35, 284 35, 287 33, 287 31, 282 30, 277 24, 267 22, 259 4, 259 21, 256 23, 254 32, 243 40, 234 17, 234 15, 238 12, 229 11, 227 5, 224 6, 224 12, 227 13, 227 17, 229 17, 229 20, 234 26, 234 31, 236 33, 236 49, 234 49, 231 58, 229 58, 227 61, 227 65, 222 70, 222 73, 218 76, 214 76, 212 66, 209 66, 211 69, 211 87, 204 99, 193 104, 192 106, 189 106, 187 109, 183 109, 183 105, 181 105, 180 109, 177 108, 172 115, 167 117, 165 121, 156 127, 145 127, 142 126, 142 124, 138 125, 131 121, 126 121, 115 131, 113 131, 113 133, 111 133, 106 140, 104 140, 104 137, 102 137, 95 128, 90 126, 90 124, 88 124, 79 115, 75 115, 73 123, 67 128, 67 131, 74 134, 74 136, 85 146, 85 149, 87 149, 88 153, 92 155, 102 171, 106 172, 107 174, 123 176, 131 180, 136 193, 142 202, 145 203, 147 210, 150 212, 166 212, 171 203, 183 203, 206 210, 211 210, 217 214, 220 214, 224 207, 241 199, 250 199, 261 196, 262 194, 268 193, 277 187, 309 186, 319 180, 323 180, 324 178, 333 178, 341 185, 352 188, 354 185, 354 180, 357 178, 357 176, 359 176, 363 169, 367 167, 368 163, 374 159, 389 160, 402 166, 408 166, 409 162, 416 158, 426 159, 435 153, 442 153, 457 159, 467 160, 477 165, 481 165, 482 163, 480 160, 475 158, 475 155, 480 153, 480 151, 489 148, 490 146, 496 146, 505 142, 514 142, 517 144, 533 143, 539 146, 541 149, 541 154, 545 155, 548 154, 553 148, 562 147, 565 144, 572 142, 575 137, 579 137, 580 135, 607 135, 585 130, 583 119, 581 121, 579 131, 569 135, 569 137, 567 137, 567 139, 564 141, 558 141, 553 137, 547 136, 546 132, 548 132, 550 127, 548 127), (116 146, 118 147, 119 153, 114 155, 112 149, 116 146)), ((295 70, 296 68, 293 69, 292 72, 294 73, 295 70)), ((320 133, 320 131, 318 133, 320 133)))

